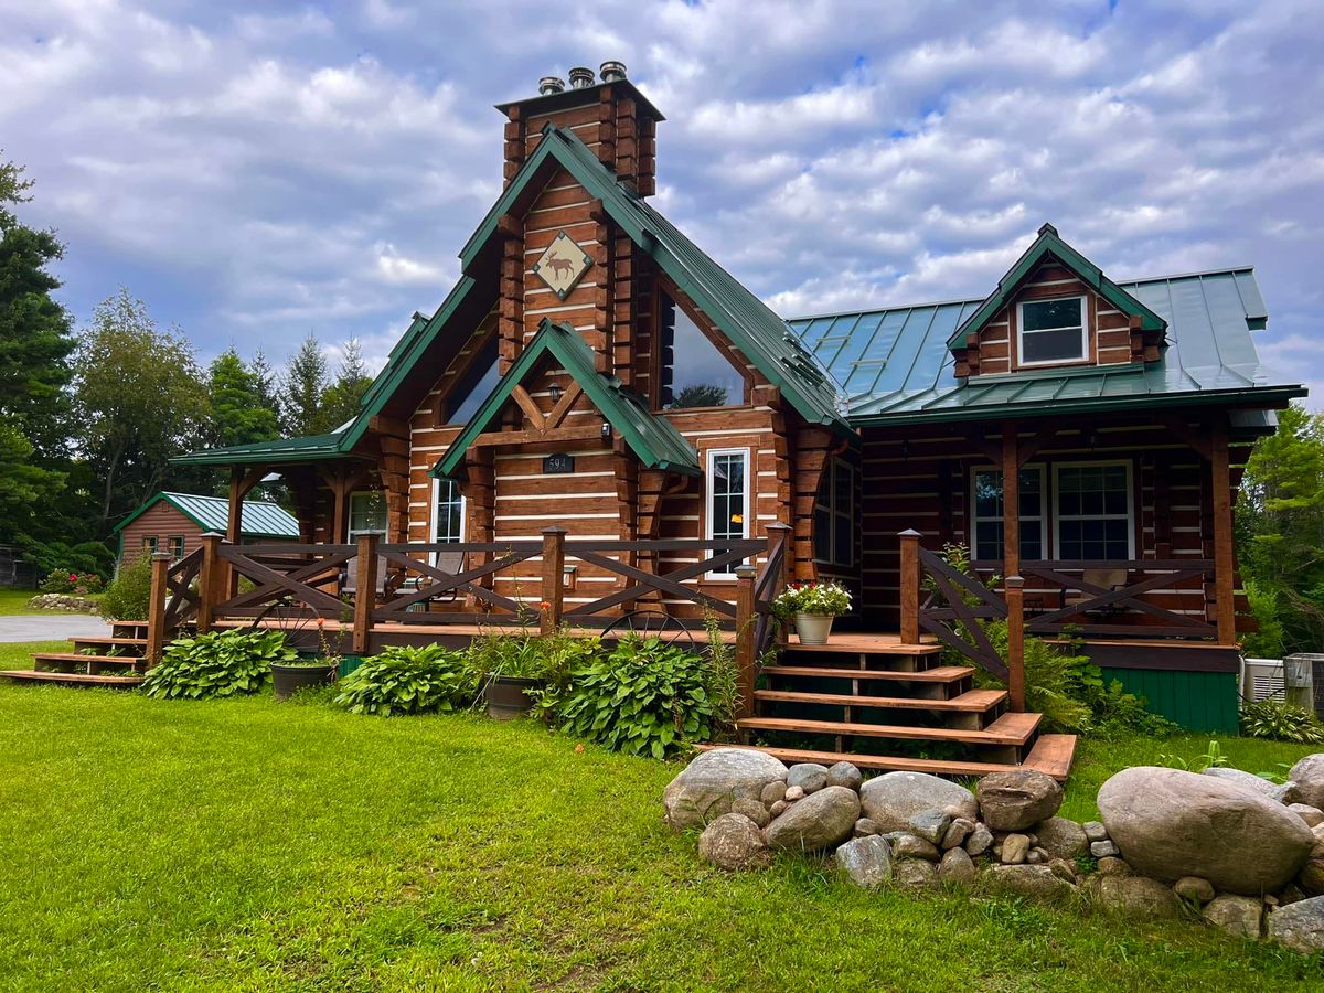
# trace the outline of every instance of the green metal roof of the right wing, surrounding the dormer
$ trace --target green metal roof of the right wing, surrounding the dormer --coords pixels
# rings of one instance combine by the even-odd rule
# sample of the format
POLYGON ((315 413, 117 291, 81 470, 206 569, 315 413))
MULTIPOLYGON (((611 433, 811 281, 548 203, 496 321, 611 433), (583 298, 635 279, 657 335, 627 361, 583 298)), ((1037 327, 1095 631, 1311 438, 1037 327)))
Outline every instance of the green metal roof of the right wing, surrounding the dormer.
POLYGON ((1158 361, 953 375, 949 342, 985 301, 796 318, 789 323, 847 397, 851 424, 981 420, 1304 396, 1272 383, 1253 330, 1267 311, 1249 266, 1116 283, 1166 322, 1158 361))

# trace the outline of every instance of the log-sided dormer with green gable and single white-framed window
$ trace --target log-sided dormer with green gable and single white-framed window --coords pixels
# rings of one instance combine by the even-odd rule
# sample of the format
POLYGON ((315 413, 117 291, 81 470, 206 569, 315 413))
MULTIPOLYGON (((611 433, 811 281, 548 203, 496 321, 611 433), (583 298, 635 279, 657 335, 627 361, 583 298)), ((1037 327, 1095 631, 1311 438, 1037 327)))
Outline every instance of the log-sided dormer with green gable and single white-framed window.
POLYGON ((948 339, 956 376, 1157 361, 1166 322, 1051 224, 948 339))

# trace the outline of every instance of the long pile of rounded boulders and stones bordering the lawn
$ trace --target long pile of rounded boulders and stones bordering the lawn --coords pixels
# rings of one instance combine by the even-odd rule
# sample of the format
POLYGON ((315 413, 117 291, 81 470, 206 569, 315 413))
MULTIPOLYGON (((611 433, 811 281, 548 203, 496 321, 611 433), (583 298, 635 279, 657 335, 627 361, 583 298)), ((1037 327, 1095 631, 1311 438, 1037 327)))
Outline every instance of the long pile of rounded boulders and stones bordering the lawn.
POLYGON ((1058 816, 1062 798, 1031 769, 972 793, 919 772, 865 780, 845 761, 788 768, 722 748, 677 776, 663 805, 673 828, 703 828, 699 854, 720 869, 818 853, 866 890, 988 886, 1141 919, 1185 907, 1231 935, 1324 951, 1324 753, 1282 786, 1230 769, 1124 769, 1086 824, 1058 816))

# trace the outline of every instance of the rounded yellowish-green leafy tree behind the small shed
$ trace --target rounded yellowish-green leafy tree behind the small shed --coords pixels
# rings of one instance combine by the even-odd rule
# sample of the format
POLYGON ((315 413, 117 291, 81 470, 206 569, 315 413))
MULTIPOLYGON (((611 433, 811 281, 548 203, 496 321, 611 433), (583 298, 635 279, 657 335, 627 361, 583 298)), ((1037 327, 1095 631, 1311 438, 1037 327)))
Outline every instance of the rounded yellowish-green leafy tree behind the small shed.
POLYGON ((158 330, 120 287, 93 314, 74 360, 77 414, 102 479, 99 531, 156 493, 169 458, 201 441, 207 385, 188 342, 158 330))

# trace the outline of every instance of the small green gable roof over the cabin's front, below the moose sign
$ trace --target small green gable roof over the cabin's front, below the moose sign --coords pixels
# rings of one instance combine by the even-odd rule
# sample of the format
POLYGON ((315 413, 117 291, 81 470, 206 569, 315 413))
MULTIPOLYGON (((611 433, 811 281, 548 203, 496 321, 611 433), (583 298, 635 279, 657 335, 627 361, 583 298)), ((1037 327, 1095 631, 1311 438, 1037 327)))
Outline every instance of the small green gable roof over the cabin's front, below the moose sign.
POLYGON ((538 334, 502 376, 478 412, 433 466, 432 474, 449 477, 455 473, 474 440, 491 424, 510 400, 511 392, 534 371, 544 355, 556 359, 560 368, 583 387, 588 399, 649 469, 699 475, 699 455, 675 426, 649 410, 647 404, 614 376, 604 376, 593 363, 593 350, 583 335, 565 324, 543 318, 538 334))

